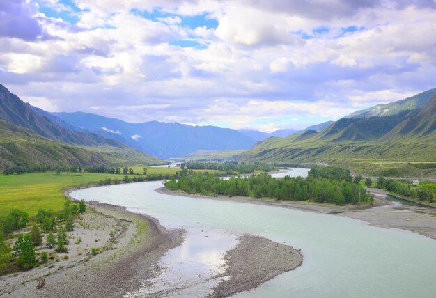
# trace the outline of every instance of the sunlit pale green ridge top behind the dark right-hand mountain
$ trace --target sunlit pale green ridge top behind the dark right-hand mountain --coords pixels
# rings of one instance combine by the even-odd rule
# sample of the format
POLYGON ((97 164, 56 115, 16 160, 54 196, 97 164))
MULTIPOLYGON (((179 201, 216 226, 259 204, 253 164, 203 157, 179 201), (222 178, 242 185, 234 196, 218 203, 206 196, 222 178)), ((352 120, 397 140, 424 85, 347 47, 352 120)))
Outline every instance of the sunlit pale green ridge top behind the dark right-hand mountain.
POLYGON ((436 94, 436 88, 424 91, 412 97, 407 97, 405 100, 398 102, 391 102, 389 104, 377 104, 375 107, 356 111, 345 118, 368 118, 368 117, 382 117, 382 116, 395 116, 404 111, 412 111, 414 109, 421 109, 431 97, 436 94))

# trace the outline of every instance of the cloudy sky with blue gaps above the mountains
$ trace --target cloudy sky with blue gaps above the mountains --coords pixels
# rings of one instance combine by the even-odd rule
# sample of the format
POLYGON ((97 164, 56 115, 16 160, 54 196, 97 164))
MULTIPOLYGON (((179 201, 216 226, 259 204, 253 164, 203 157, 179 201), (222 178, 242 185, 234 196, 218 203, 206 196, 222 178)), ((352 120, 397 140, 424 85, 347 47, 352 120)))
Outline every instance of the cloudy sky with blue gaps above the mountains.
POLYGON ((0 0, 0 84, 47 111, 272 132, 435 78, 436 0, 0 0))

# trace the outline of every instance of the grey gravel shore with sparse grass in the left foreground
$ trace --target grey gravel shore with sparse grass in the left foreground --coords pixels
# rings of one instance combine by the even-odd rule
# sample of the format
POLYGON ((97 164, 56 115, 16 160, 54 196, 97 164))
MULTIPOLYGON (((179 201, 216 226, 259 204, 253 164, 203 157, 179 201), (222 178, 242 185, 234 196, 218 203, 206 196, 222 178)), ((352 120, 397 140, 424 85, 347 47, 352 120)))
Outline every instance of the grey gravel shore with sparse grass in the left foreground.
MULTIPOLYGON (((114 220, 109 228, 123 226, 123 232, 110 249, 91 258, 83 256, 84 261, 70 265, 63 264, 62 260, 50 266, 52 268, 37 267, 28 272, 2 276, 0 288, 4 292, 0 296, 123 297, 125 293, 140 288, 143 281, 159 274, 159 258, 182 242, 181 230, 168 230, 153 217, 97 202, 88 204, 88 207, 93 208, 100 219, 114 220), (141 226, 143 223, 146 223, 145 228, 141 226), (45 286, 36 290, 39 277, 45 278, 45 286)), ((103 223, 110 224, 109 221, 103 223)), ((93 233, 97 240, 109 230, 98 228, 93 233)), ((76 257, 70 256, 69 259, 76 257)))

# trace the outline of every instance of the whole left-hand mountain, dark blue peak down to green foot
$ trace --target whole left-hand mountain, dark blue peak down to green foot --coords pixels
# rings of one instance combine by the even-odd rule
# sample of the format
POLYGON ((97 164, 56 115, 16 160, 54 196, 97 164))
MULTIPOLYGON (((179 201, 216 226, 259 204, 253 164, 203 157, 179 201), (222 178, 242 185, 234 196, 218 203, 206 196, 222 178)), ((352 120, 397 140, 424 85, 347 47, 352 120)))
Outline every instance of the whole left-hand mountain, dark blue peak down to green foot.
POLYGON ((24 164, 132 165, 165 162, 90 132, 77 132, 0 85, 0 168, 24 164), (52 122, 52 120, 55 122, 52 122), (65 125, 62 127, 59 125, 65 125))

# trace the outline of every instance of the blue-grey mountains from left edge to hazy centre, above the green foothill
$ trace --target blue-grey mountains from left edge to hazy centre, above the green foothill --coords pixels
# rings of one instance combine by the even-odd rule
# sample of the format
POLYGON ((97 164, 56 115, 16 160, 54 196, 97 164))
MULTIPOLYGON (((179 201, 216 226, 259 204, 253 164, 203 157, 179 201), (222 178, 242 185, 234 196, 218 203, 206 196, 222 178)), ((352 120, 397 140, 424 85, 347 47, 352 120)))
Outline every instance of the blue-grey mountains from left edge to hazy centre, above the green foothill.
MULTIPOLYGON (((285 137, 299 132, 293 129, 272 133, 238 131, 157 121, 127 123, 92 113, 49 113, 22 102, 17 95, 1 85, 0 99, 0 119, 20 125, 47 139, 88 148, 106 146, 123 150, 128 146, 162 159, 182 157, 197 151, 247 150, 271 136, 285 137)), ((322 130, 329 124, 322 123, 317 125, 318 128, 312 128, 322 130)))

